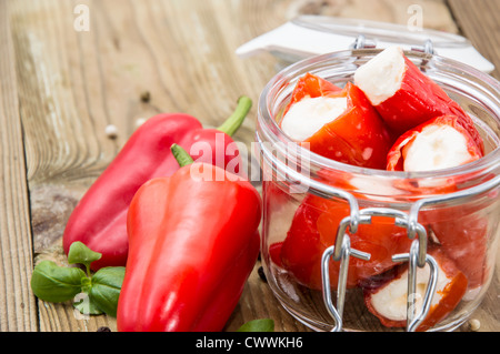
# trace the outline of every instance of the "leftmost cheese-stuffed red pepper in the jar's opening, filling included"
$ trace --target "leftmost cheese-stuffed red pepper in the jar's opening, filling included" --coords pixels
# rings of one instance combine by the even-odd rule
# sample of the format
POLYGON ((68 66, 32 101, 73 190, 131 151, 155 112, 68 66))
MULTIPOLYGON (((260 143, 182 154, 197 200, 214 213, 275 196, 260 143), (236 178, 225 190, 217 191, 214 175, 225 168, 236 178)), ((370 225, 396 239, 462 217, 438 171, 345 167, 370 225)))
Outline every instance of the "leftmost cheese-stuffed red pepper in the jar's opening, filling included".
POLYGON ((339 89, 310 73, 299 80, 281 128, 314 153, 371 169, 384 169, 393 143, 361 90, 350 82, 339 89))

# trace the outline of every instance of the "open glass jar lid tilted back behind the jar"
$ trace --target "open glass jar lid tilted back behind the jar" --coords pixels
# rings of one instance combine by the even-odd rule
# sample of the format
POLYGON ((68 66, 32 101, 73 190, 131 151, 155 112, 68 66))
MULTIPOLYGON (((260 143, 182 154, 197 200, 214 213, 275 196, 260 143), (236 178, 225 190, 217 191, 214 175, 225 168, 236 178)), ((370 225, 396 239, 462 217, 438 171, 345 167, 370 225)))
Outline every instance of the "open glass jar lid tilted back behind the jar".
POLYGON ((453 59, 487 73, 494 70, 494 65, 467 38, 458 34, 327 16, 300 16, 250 40, 236 52, 246 58, 264 51, 284 61, 296 62, 347 49, 384 49, 391 45, 453 59))

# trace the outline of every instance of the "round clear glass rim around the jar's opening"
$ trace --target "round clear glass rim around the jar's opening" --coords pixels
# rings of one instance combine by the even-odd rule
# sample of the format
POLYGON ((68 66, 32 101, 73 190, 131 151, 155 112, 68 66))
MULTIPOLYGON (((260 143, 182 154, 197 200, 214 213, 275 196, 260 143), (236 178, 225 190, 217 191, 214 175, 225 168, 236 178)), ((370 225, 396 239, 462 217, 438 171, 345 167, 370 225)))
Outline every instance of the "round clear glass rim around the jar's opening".
MULTIPOLYGON (((269 94, 278 89, 278 91, 282 90, 287 87, 287 82, 289 79, 298 79, 299 73, 306 73, 308 71, 313 71, 317 68, 320 68, 321 64, 324 64, 331 60, 346 60, 346 59, 356 59, 361 57, 369 57, 379 53, 381 49, 356 49, 356 50, 346 50, 338 51, 321 55, 311 57, 301 61, 298 61, 281 71, 279 71, 264 87, 258 104, 258 123, 259 127, 264 129, 266 136, 270 140, 271 143, 296 143, 291 138, 289 138, 279 127, 279 123, 273 119, 273 114, 270 110, 270 100, 269 94)), ((492 78, 491 75, 479 71, 470 65, 463 64, 452 59, 443 58, 436 54, 427 54, 417 51, 404 51, 404 54, 409 57, 411 60, 422 60, 428 63, 439 64, 444 68, 450 68, 459 72, 467 73, 468 75, 474 77, 477 80, 481 82, 482 88, 488 88, 490 92, 493 93, 494 99, 499 102, 498 105, 498 114, 496 114, 496 120, 500 124, 500 82, 492 78)), ((349 62, 349 61, 348 61, 349 62)), ((500 135, 500 133, 498 133, 500 135)), ((306 148, 297 144, 297 152, 303 153, 306 148)), ((319 169, 324 170, 336 170, 343 171, 348 173, 352 173, 356 175, 370 175, 377 176, 381 179, 430 179, 430 178, 456 178, 458 175, 464 174, 474 174, 478 172, 490 173, 492 170, 500 168, 500 146, 496 146, 496 149, 483 158, 470 162, 464 165, 448 168, 441 170, 433 171, 419 171, 419 172, 402 172, 402 171, 387 171, 387 170, 376 170, 376 169, 367 169, 357 165, 350 165, 346 163, 341 163, 324 156, 321 156, 317 153, 308 151, 307 154, 310 156, 311 165, 314 165, 319 169)))

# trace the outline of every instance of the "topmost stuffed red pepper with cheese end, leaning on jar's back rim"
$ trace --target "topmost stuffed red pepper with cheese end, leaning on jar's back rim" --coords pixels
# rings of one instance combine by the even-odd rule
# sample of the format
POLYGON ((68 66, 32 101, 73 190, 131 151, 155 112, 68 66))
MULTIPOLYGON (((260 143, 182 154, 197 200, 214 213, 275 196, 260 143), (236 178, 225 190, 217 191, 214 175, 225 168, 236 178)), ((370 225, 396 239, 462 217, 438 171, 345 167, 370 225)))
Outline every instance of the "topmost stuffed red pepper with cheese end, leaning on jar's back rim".
POLYGON ((482 138, 472 119, 441 87, 420 71, 401 49, 388 48, 360 67, 354 73, 354 83, 397 135, 432 118, 457 115, 458 122, 484 152, 482 138))

